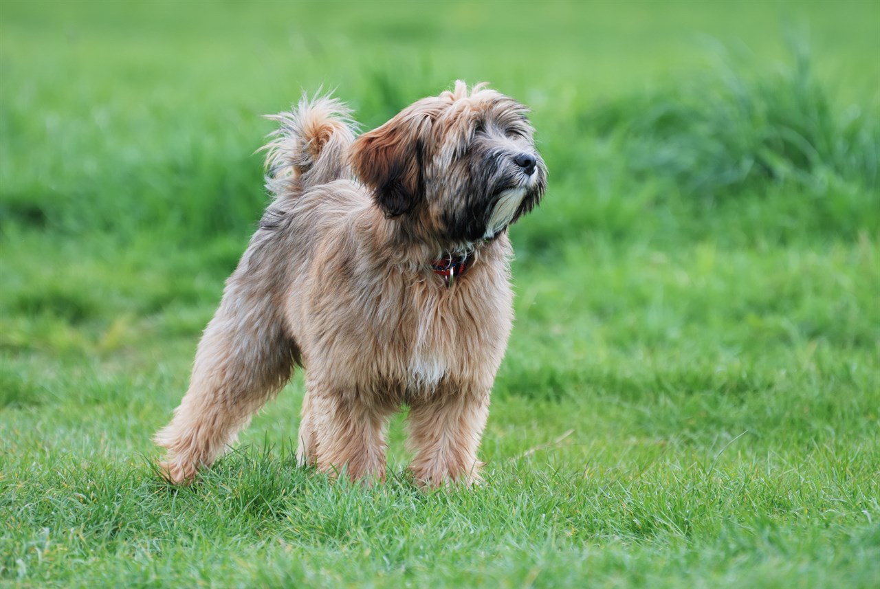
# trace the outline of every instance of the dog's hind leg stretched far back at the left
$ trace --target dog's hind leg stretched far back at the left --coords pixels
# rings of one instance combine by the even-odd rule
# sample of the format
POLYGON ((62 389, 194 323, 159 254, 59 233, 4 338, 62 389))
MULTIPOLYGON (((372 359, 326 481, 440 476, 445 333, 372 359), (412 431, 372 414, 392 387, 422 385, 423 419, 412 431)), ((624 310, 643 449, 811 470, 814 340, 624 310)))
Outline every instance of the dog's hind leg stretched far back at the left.
POLYGON ((154 438, 168 451, 159 466, 172 483, 214 462, 290 379, 296 346, 282 331, 271 289, 246 286, 233 275, 199 343, 187 395, 154 438))

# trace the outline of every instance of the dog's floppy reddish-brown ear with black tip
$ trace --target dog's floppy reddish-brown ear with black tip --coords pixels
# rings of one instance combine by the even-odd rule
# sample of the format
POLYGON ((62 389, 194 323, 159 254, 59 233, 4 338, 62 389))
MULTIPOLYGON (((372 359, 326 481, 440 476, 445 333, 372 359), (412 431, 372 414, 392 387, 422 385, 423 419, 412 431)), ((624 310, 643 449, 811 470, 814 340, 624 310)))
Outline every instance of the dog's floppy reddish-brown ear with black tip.
POLYGON ((422 160, 430 125, 424 113, 400 113, 352 145, 352 169, 373 189, 385 216, 407 213, 424 196, 422 160))

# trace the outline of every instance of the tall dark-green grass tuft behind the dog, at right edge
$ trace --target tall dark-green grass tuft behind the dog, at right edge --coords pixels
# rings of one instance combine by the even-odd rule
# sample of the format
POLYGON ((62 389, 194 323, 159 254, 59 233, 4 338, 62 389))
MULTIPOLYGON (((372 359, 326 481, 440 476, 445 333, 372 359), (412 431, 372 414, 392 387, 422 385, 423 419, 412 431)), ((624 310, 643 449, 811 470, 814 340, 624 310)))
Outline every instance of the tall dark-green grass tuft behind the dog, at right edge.
POLYGON ((776 71, 722 55, 708 75, 582 113, 616 144, 636 179, 665 179, 697 200, 789 185, 825 192, 878 185, 880 124, 869 108, 838 107, 807 45, 776 71))

